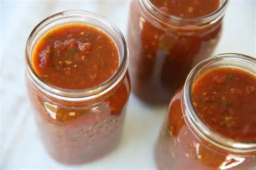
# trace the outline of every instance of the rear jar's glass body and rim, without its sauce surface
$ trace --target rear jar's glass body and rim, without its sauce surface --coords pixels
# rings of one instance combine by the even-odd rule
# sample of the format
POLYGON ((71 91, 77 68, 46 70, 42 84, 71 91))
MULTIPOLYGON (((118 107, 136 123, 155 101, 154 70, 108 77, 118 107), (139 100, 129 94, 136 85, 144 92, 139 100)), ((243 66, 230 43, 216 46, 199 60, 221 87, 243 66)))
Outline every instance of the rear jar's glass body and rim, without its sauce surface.
POLYGON ((166 104, 190 70, 211 56, 221 36, 227 0, 210 15, 170 15, 150 0, 132 1, 127 42, 132 91, 146 103, 166 104))

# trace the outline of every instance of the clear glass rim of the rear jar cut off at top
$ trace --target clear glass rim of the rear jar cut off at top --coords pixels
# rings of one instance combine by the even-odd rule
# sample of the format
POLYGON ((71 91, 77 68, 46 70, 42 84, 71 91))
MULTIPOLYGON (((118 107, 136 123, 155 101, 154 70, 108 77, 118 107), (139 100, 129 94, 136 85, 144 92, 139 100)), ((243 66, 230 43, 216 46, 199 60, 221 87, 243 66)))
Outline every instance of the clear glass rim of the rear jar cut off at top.
POLYGON ((228 2, 229 0, 223 0, 223 3, 217 10, 206 16, 188 18, 172 15, 171 13, 165 12, 159 9, 150 0, 139 0, 139 3, 144 6, 144 8, 150 12, 151 16, 157 20, 181 27, 199 27, 217 22, 224 16, 228 2))

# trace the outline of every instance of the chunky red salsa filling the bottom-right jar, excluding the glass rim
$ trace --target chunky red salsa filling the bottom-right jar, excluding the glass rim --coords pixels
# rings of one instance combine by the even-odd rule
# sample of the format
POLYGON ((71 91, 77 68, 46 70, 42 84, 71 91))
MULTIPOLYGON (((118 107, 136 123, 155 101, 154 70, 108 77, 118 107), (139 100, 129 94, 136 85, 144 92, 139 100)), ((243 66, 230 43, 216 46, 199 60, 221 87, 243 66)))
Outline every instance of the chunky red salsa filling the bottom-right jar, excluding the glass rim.
MULTIPOLYGON (((185 88, 185 87, 184 87, 185 88)), ((193 82, 190 102, 216 134, 238 142, 256 141, 256 76, 239 68, 213 68, 193 82)), ((255 152, 224 150, 200 137, 187 121, 180 88, 156 145, 159 169, 248 169, 255 152), (184 116, 185 115, 185 116, 184 116)))

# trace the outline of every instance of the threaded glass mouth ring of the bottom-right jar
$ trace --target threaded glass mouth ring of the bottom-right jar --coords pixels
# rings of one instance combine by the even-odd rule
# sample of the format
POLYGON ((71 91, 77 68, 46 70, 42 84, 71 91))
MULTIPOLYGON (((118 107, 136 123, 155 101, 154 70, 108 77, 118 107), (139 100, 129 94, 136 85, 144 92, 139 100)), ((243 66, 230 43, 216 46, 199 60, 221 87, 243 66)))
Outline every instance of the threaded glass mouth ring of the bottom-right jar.
MULTIPOLYGON (((185 86, 183 88, 183 94, 181 95, 183 98, 184 105, 181 106, 185 121, 191 125, 196 134, 199 134, 200 137, 210 142, 211 144, 223 148, 224 150, 233 151, 237 153, 248 153, 248 152, 256 152, 256 141, 252 142, 239 142, 234 139, 224 137, 223 135, 215 132, 206 123, 198 116, 196 109, 194 109, 192 104, 192 96, 191 89, 193 86, 193 80, 196 77, 199 70, 204 67, 210 65, 211 63, 215 63, 221 60, 229 60, 229 61, 237 61, 244 62, 248 65, 251 65, 252 68, 256 68, 256 59, 251 56, 243 55, 243 54, 235 54, 235 53, 225 53, 215 55, 212 58, 201 61, 196 65, 187 76, 185 81, 185 86)), ((225 66, 224 66, 225 67, 225 66)), ((238 67, 235 67, 238 68, 238 67)), ((244 68, 240 68, 244 69, 244 68)), ((255 74, 255 71, 253 72, 255 74)))

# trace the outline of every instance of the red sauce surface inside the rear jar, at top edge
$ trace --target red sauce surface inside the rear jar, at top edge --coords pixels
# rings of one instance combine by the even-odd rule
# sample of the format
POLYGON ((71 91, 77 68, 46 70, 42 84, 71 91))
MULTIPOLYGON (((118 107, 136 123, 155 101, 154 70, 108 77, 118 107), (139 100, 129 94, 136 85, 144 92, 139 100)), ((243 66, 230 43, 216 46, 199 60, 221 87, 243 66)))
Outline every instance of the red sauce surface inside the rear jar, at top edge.
POLYGON ((213 13, 219 8, 219 0, 150 0, 162 11, 179 17, 196 18, 213 13))

